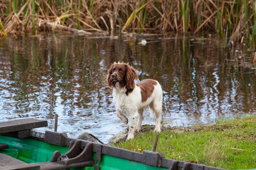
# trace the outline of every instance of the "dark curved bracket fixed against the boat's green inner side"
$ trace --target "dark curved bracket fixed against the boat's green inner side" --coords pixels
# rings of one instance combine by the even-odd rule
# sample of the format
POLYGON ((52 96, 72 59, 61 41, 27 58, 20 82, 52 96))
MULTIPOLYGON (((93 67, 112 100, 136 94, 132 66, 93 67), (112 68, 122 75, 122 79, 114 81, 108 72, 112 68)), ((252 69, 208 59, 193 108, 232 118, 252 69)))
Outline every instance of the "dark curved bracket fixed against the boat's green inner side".
POLYGON ((52 160, 56 161, 56 157, 60 155, 57 158, 57 162, 66 165, 78 162, 93 161, 92 143, 86 143, 84 148, 82 147, 82 144, 83 143, 81 140, 76 140, 74 144, 71 145, 69 151, 64 155, 60 155, 55 151, 52 160))

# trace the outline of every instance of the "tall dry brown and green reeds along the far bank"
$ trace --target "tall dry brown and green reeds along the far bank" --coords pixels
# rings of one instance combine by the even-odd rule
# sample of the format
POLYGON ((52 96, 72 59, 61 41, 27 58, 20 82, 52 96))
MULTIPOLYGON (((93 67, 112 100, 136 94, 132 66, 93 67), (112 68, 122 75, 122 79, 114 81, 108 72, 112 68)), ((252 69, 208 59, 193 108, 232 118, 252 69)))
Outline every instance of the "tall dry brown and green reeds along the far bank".
MULTIPOLYGON (((36 29, 44 30, 44 23, 58 22, 69 28, 97 32, 209 32, 252 47, 255 6, 254 0, 18 0, 4 1, 0 16, 7 34, 29 30, 36 34, 36 29)), ((3 29, 0 33, 3 35, 3 29)))

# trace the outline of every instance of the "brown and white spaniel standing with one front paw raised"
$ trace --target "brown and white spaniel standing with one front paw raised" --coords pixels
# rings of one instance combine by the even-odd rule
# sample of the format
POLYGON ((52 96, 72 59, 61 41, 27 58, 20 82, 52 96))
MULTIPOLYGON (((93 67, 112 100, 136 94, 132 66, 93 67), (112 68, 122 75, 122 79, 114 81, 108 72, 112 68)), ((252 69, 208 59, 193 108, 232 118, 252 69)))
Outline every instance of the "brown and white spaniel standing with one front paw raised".
POLYGON ((161 113, 163 91, 158 81, 145 79, 135 83, 138 79, 136 70, 126 63, 113 63, 108 71, 108 86, 113 89, 113 103, 116 114, 128 123, 129 133, 126 140, 132 139, 135 132, 139 132, 143 120, 143 109, 149 106, 151 113, 156 115, 156 132, 161 131, 161 113))

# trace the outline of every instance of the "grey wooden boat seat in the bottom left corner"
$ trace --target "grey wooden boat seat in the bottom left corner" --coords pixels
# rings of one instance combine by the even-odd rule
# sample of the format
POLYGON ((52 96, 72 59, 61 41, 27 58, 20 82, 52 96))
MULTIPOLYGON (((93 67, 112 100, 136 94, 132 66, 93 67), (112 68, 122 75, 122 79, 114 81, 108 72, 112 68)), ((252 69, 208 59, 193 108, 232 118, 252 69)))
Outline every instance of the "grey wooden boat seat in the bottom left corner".
POLYGON ((40 166, 35 163, 26 163, 9 155, 0 154, 0 170, 39 170, 40 166))

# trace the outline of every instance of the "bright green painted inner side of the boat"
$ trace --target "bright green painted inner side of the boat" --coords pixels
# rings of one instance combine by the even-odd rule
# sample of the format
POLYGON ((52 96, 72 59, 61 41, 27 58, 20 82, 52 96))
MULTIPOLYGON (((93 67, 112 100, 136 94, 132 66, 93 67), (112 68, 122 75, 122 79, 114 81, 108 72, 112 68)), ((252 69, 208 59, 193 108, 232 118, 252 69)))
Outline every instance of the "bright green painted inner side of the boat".
MULTIPOLYGON (((67 146, 59 146, 55 144, 46 143, 44 141, 31 138, 14 138, 0 135, 0 143, 8 144, 9 148, 0 150, 0 153, 9 155, 26 163, 39 163, 50 161, 54 151, 60 151, 65 154, 69 151, 67 146)), ((94 154, 95 160, 96 154, 94 154)), ((93 166, 80 167, 73 169, 94 169, 93 166)), ((149 166, 140 162, 129 161, 126 159, 101 155, 100 169, 168 169, 163 167, 149 166)))

